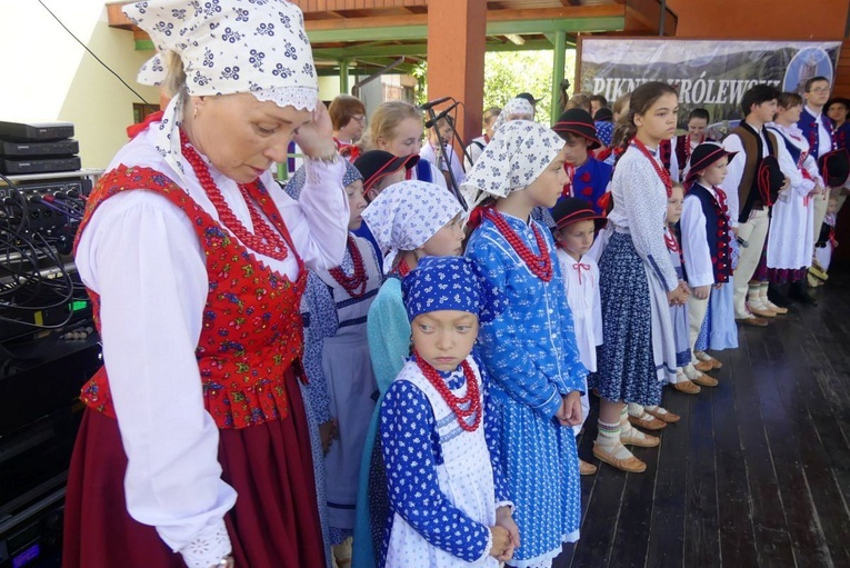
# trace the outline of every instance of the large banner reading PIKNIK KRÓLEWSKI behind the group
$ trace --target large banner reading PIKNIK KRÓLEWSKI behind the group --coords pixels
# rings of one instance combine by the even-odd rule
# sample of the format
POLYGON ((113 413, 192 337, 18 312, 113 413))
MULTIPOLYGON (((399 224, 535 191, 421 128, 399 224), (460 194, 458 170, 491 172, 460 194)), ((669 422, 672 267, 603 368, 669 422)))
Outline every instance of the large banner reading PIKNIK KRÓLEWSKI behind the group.
POLYGON ((839 41, 582 38, 579 90, 602 94, 612 104, 641 83, 664 81, 678 88, 680 128, 687 128, 691 110, 704 108, 712 133, 722 137, 742 118, 741 98, 754 84, 802 94, 812 77, 832 83, 840 46, 839 41))

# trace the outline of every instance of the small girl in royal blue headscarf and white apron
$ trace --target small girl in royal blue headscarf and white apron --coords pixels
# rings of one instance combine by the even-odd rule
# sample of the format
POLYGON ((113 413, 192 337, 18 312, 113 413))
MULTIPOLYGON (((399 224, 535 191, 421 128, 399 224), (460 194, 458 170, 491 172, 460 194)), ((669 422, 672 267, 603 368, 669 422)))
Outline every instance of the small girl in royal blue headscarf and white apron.
POLYGON ((402 292, 413 353, 381 403, 391 509, 382 566, 497 568, 520 535, 472 347, 479 318, 490 320, 500 302, 462 257, 423 258, 402 292))

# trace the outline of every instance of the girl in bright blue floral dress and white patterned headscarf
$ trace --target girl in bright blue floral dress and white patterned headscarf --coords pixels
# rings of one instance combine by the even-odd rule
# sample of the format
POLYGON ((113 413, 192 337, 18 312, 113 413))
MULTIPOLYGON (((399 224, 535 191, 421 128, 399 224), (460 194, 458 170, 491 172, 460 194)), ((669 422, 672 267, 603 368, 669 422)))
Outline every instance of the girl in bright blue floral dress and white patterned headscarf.
POLYGON ((483 207, 467 256, 504 295, 504 310, 481 326, 478 341, 492 379, 488 412, 502 432, 501 459, 522 536, 509 565, 520 568, 550 567, 562 544, 578 539, 581 516, 570 426, 581 421, 587 370, 552 235, 530 220, 534 207, 553 207, 561 196, 563 147, 541 124, 508 122, 463 185, 473 203, 496 198, 483 207))

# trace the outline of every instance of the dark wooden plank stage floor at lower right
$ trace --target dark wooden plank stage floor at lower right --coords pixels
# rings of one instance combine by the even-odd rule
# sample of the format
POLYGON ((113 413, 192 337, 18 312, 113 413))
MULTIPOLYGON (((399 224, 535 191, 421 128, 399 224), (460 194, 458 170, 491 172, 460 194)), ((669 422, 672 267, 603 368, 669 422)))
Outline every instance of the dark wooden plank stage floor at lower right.
MULTIPOLYGON (((636 449, 644 474, 582 478, 581 540, 554 568, 850 567, 850 275, 814 297, 739 327, 718 387, 664 389, 682 420, 636 449)), ((591 403, 579 454, 599 464, 591 403)))

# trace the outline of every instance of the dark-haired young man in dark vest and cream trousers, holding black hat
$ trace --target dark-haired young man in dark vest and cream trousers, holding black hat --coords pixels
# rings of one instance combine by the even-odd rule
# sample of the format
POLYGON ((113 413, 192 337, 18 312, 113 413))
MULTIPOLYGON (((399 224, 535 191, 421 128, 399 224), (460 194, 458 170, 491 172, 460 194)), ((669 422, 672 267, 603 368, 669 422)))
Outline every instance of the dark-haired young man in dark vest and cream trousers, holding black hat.
POLYGON ((720 185, 727 195, 732 232, 741 243, 741 256, 734 270, 734 317, 743 325, 757 327, 768 325, 760 315, 770 317, 776 312, 766 303, 768 283, 757 282, 751 289, 750 280, 767 241, 770 206, 778 191, 788 186, 788 179, 781 187, 777 187, 776 180, 779 155, 787 150, 774 133, 764 129, 764 124, 773 120, 778 96, 777 89, 769 84, 757 84, 744 92, 741 109, 746 118, 723 140, 723 149, 737 153, 720 185), (773 183, 769 180, 771 172, 773 183))

